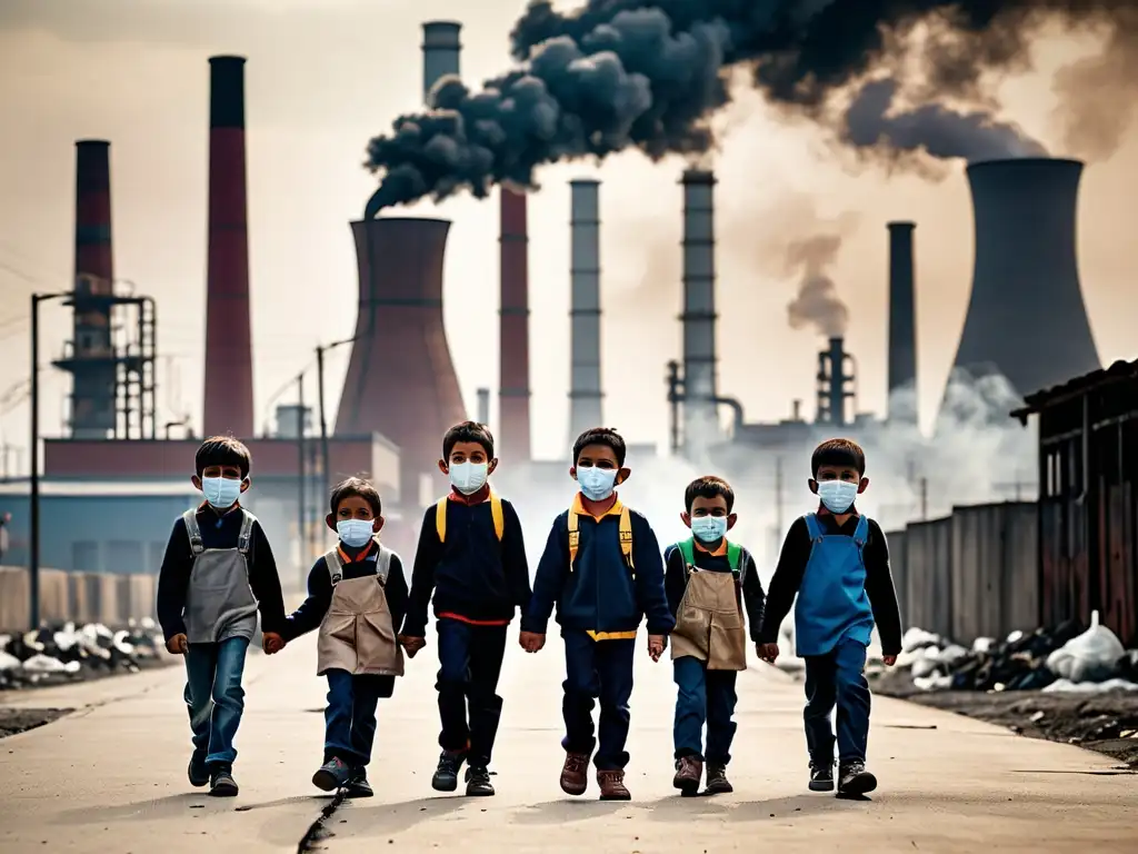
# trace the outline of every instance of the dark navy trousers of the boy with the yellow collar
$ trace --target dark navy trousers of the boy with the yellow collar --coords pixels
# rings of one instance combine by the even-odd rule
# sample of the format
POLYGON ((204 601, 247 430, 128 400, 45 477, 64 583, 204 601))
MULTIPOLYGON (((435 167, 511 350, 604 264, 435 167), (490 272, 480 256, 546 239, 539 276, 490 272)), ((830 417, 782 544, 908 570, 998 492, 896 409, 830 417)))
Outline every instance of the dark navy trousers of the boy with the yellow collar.
POLYGON ((636 640, 595 641, 587 632, 564 629, 564 700, 561 713, 566 737, 561 746, 568 753, 588 756, 596 747, 597 770, 624 769, 628 764, 625 742, 630 720, 628 700, 633 695, 633 651, 636 640), (593 704, 601 701, 601 721, 593 729, 593 704))

